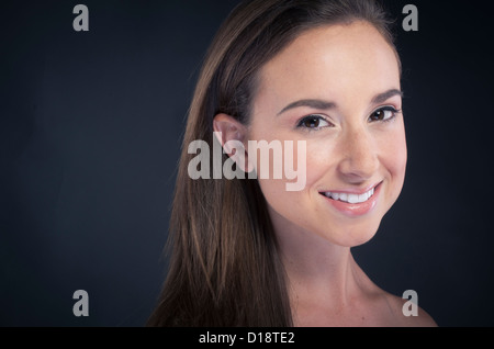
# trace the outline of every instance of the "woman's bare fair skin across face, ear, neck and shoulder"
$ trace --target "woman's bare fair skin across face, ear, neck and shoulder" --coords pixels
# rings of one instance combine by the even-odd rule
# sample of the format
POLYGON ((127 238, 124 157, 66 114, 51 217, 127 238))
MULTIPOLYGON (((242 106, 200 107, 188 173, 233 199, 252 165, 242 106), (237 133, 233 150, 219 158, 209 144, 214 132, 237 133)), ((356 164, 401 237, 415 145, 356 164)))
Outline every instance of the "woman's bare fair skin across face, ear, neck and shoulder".
POLYGON ((303 190, 287 191, 285 178, 259 179, 287 268, 295 326, 436 325, 423 309, 404 316, 405 300, 378 288, 350 251, 373 237, 403 187, 403 115, 390 111, 402 109, 400 89, 395 53, 372 25, 323 26, 302 33, 262 67, 249 125, 225 114, 215 117, 223 144, 306 142, 303 190), (326 105, 293 106, 301 100, 326 105), (322 195, 374 187, 375 202, 363 214, 338 210, 322 195))

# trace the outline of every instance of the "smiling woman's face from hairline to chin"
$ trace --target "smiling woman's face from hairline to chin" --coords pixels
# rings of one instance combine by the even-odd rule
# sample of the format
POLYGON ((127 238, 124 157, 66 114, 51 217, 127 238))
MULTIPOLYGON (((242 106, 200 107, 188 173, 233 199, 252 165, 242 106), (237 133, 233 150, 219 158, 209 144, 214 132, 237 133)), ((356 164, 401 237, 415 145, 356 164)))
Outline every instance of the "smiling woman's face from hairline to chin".
POLYGON ((259 179, 278 234, 350 247, 375 234, 405 177, 400 91, 394 50, 364 22, 304 32, 262 67, 248 139, 306 142, 303 190, 259 179))

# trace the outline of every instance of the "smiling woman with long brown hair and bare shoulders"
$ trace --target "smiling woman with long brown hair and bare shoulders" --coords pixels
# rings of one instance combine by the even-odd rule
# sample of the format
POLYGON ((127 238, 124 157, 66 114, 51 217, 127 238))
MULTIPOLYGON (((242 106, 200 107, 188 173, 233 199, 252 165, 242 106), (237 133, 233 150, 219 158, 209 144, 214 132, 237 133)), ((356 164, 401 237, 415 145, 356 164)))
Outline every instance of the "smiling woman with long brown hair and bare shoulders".
POLYGON ((404 316, 404 301, 372 283, 350 252, 375 234, 403 185, 400 71, 374 1, 254 0, 231 13, 190 108, 170 269, 148 325, 435 325, 422 309, 404 316), (304 185, 287 190, 293 177, 274 178, 274 157, 263 165, 271 176, 192 179, 189 145, 213 149, 216 139, 223 160, 254 173, 261 164, 249 140, 279 142, 283 153, 293 142, 305 150, 292 159, 305 167, 304 185))

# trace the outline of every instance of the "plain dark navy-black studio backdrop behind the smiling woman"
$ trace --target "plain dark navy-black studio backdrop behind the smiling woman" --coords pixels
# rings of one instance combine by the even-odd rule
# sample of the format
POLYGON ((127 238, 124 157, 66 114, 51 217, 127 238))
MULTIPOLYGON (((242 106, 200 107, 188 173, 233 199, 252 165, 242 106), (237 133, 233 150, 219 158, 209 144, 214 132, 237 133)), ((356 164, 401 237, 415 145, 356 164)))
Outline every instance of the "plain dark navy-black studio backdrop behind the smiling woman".
MULTIPOLYGON (((166 262, 184 116, 237 1, 2 1, 0 325, 142 326, 166 262), (89 8, 89 32, 72 9, 89 8), (89 293, 89 316, 72 293, 89 293)), ((408 168, 355 248, 440 326, 493 326, 493 30, 486 1, 385 1, 397 19, 408 168), (419 31, 404 32, 414 3, 419 31)))

